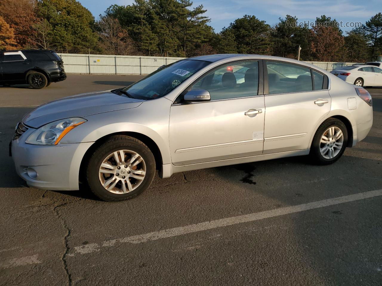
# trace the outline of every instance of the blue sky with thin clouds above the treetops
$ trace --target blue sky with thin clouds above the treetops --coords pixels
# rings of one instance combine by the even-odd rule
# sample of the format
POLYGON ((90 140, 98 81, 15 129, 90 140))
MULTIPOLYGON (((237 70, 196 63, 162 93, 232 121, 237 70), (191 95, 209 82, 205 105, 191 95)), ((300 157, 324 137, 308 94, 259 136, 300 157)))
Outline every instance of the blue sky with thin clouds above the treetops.
MULTIPOLYGON (((78 0, 96 19, 99 14, 113 4, 130 5, 133 0, 78 0)), ((321 15, 326 15, 338 22, 362 22, 363 24, 375 14, 382 12, 381 0, 195 0, 193 6, 203 5, 207 10, 205 16, 211 19, 209 23, 220 32, 231 22, 245 14, 254 15, 267 24, 274 26, 278 18, 285 15, 297 16, 298 21, 312 21, 321 15)), ((352 27, 342 27, 350 31, 352 27)))

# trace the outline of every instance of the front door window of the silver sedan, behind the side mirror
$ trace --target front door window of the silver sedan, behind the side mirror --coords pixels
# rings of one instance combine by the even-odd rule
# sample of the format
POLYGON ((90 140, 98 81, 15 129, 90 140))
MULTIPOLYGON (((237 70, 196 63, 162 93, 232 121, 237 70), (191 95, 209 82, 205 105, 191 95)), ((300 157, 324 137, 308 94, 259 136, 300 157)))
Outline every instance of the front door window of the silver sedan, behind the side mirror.
POLYGON ((259 63, 242 61, 207 73, 192 89, 208 90, 211 100, 254 96, 259 89, 259 63))

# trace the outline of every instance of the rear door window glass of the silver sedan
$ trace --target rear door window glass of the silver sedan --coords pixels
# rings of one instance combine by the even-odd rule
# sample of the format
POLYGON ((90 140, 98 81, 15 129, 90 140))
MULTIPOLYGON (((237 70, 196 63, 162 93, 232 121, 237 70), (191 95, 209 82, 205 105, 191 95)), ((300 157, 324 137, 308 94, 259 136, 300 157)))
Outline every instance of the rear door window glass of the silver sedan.
POLYGON ((267 71, 269 94, 313 90, 311 70, 306 67, 267 61, 267 71))

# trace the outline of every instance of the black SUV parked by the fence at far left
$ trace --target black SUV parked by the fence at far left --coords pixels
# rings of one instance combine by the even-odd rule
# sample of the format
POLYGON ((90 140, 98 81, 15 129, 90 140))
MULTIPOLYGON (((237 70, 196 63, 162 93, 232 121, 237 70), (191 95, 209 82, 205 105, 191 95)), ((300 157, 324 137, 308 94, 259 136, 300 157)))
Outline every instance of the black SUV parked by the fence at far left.
POLYGON ((43 88, 66 79, 62 59, 49 50, 0 51, 0 85, 43 88))

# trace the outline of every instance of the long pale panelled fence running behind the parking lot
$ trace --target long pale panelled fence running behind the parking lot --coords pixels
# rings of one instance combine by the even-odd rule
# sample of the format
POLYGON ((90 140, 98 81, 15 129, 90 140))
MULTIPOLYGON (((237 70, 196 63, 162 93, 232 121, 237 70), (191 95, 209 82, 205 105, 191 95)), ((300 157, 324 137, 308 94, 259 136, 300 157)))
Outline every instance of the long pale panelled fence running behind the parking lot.
MULTIPOLYGON (((113 56, 63 54, 65 71, 74 74, 150 74, 163 64, 170 64, 179 59, 155 56, 113 56)), ((354 63, 307 61, 327 71, 354 63)))

